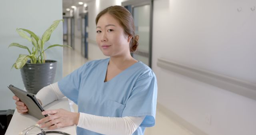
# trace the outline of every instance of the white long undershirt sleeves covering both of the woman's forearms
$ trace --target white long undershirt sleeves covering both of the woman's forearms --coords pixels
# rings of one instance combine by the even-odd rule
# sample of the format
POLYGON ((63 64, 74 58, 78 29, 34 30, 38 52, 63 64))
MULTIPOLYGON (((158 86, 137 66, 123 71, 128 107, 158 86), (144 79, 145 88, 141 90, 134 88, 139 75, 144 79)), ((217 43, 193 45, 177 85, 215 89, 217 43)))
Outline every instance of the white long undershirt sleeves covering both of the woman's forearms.
MULTIPOLYGON (((62 97, 64 95, 60 91, 58 83, 50 84, 36 94, 36 98, 40 99, 42 106, 62 97)), ((77 126, 105 135, 131 135, 140 126, 144 118, 145 116, 102 117, 80 113, 77 126)))

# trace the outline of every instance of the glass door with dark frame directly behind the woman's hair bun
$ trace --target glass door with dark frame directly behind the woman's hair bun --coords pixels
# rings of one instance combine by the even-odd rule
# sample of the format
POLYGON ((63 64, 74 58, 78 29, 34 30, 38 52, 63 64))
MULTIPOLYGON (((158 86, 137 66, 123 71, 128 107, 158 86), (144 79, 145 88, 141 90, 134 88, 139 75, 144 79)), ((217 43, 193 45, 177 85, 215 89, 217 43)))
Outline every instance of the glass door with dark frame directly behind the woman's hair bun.
POLYGON ((152 60, 152 0, 128 0, 122 6, 128 9, 134 18, 135 34, 139 35, 137 51, 132 57, 151 67, 152 60))

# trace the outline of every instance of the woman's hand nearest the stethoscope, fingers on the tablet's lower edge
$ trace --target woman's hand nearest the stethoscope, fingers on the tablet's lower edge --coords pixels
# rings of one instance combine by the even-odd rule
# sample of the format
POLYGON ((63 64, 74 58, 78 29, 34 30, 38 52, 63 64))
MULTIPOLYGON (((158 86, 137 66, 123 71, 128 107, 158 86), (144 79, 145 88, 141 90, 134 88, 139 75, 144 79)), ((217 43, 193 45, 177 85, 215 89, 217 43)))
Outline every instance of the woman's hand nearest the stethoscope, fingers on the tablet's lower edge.
POLYGON ((47 127, 48 129, 57 129, 60 127, 67 127, 70 125, 77 125, 80 113, 73 113, 64 109, 46 110, 42 115, 48 114, 49 116, 40 119, 37 123, 40 127, 47 127))

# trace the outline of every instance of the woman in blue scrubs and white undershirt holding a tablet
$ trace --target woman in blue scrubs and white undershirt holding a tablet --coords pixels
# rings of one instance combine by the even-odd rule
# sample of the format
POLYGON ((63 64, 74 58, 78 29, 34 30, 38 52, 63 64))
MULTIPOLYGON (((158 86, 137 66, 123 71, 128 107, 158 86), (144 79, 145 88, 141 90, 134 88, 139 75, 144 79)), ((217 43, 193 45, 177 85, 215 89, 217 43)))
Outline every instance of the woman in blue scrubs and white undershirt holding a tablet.
MULTIPOLYGON (((110 58, 87 62, 36 95, 42 105, 66 96, 78 104, 79 113, 46 110, 42 114, 50 116, 38 124, 48 129, 77 125, 78 135, 143 135, 155 123, 157 83, 153 71, 130 55, 138 46, 130 12, 122 6, 102 10, 96 42, 110 58)), ((18 112, 26 113, 24 103, 13 98, 18 112)))

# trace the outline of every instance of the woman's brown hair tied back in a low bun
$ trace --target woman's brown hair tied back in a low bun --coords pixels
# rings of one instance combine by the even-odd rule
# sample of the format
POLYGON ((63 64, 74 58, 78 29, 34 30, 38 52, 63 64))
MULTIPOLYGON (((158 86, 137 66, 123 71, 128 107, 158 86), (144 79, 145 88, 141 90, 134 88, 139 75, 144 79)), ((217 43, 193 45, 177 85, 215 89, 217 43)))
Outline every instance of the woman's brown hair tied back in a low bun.
POLYGON ((106 13, 112 15, 116 20, 118 20, 119 24, 124 29, 124 32, 129 36, 130 35, 132 36, 132 39, 130 40, 130 52, 135 52, 138 47, 139 36, 138 35, 135 36, 135 33, 134 33, 135 28, 134 28, 134 21, 132 18, 132 14, 122 6, 110 6, 102 10, 97 15, 95 19, 96 25, 100 17, 106 13))

